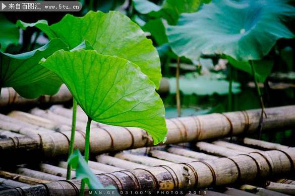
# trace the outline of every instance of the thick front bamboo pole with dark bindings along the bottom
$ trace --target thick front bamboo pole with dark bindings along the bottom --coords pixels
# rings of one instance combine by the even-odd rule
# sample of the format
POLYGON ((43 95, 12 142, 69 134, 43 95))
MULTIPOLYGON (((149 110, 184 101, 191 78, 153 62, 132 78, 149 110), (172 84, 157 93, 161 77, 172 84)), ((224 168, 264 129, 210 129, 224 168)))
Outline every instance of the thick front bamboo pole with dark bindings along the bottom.
MULTIPOLYGON (((96 175, 103 185, 121 190, 204 188, 285 175, 295 167, 295 149, 252 152, 208 161, 194 161, 96 175)), ((0 192, 6 195, 78 195, 81 180, 62 180, 0 192), (20 191, 21 190, 21 191, 20 191), (67 190, 67 191, 65 191, 67 190), (62 191, 62 192, 61 192, 62 191)), ((86 190, 87 193, 87 190, 86 190)))

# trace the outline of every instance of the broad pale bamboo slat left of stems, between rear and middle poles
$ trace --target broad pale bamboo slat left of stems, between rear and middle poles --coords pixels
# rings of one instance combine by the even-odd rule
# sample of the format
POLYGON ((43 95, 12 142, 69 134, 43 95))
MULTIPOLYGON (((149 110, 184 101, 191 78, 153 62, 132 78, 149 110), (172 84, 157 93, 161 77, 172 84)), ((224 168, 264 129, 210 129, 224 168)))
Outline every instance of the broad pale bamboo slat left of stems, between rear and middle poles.
POLYGON ((21 111, 13 111, 8 116, 47 129, 55 130, 58 128, 53 121, 21 111))

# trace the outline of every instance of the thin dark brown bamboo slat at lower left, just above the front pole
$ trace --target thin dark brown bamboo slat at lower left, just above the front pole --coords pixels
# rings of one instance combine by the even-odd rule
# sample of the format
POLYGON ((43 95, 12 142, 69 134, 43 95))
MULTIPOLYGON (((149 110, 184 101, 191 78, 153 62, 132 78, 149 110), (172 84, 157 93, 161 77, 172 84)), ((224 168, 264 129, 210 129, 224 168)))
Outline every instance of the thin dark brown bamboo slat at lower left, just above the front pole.
POLYGON ((8 171, 2 171, 0 170, 0 176, 6 179, 13 179, 19 182, 24 182, 27 184, 39 184, 39 183, 48 183, 50 181, 48 180, 42 180, 42 179, 38 179, 38 178, 34 178, 34 177, 29 177, 26 175, 20 175, 20 174, 16 174, 16 173, 11 173, 8 171))

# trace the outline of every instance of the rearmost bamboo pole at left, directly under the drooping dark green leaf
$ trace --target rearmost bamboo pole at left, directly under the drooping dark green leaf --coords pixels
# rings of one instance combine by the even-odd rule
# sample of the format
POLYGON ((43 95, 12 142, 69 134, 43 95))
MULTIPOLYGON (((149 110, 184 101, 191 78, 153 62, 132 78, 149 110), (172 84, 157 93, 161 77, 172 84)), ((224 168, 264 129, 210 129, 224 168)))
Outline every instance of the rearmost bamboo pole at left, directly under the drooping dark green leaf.
POLYGON ((72 94, 66 85, 53 96, 43 95, 37 99, 25 99, 20 96, 13 88, 2 88, 0 96, 0 107, 9 105, 38 105, 38 104, 58 104, 72 100, 72 94))

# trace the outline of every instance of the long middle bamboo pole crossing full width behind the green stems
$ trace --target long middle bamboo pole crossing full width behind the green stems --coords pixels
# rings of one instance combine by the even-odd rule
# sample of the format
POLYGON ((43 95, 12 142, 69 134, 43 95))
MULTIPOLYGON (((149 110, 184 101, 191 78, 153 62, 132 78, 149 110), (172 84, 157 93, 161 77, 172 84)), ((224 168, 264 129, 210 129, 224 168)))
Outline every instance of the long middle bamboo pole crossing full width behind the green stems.
MULTIPOLYGON (((265 112, 267 118, 264 119, 263 131, 295 127, 295 106, 269 108, 265 112)), ((166 144, 255 132, 259 125, 260 113, 260 110, 250 110, 167 119, 166 144)), ((43 158, 65 156, 68 153, 70 135, 70 131, 65 131, 62 133, 53 132, 30 137, 2 139, 0 140, 0 152, 4 155, 14 153, 15 156, 23 154, 27 157, 36 157, 36 154, 38 154, 43 158), (26 148, 25 151, 22 150, 24 148, 26 148)), ((75 148, 83 152, 84 144, 84 132, 78 131, 75 134, 75 148)), ((90 132, 91 154, 152 145, 151 137, 138 128, 106 126, 92 128, 90 132)))

